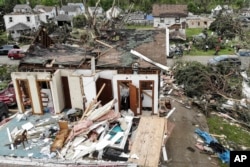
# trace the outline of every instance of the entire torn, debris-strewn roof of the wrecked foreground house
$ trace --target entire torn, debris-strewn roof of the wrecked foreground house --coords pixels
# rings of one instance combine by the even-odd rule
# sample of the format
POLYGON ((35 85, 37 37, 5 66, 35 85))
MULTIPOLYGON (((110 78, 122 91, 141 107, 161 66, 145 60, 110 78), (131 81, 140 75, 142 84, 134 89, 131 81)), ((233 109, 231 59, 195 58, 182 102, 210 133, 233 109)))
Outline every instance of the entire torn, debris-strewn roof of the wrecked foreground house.
MULTIPOLYGON (((165 30, 119 30, 114 37, 119 38, 116 41, 110 39, 112 36, 110 34, 107 33, 106 38, 103 36, 95 38, 95 44, 92 47, 80 48, 73 45, 53 44, 45 48, 34 43, 19 67, 25 64, 43 64, 52 59, 55 59, 54 64, 79 66, 84 63, 83 60, 86 62, 87 58, 96 56, 96 68, 131 68, 132 64, 137 62, 140 68, 159 69, 154 64, 130 53, 131 50, 139 52, 155 63, 166 65, 165 30)), ((41 36, 36 39, 40 38, 41 36)))

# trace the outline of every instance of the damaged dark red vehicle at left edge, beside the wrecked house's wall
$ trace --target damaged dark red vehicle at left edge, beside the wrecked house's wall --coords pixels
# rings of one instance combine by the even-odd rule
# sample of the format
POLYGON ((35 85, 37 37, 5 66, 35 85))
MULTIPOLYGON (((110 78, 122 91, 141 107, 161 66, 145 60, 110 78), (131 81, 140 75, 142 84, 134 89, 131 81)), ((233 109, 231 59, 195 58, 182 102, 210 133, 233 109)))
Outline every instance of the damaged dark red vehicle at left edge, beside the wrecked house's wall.
POLYGON ((0 91, 0 101, 8 106, 16 105, 16 95, 13 83, 9 83, 7 88, 0 91))

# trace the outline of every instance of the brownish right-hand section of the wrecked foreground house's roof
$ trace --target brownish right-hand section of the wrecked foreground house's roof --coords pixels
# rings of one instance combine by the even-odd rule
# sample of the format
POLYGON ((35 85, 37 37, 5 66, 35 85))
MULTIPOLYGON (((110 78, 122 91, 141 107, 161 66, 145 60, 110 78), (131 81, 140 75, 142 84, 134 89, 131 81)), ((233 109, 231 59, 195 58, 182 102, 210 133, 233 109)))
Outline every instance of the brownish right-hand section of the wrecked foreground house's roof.
POLYGON ((131 67, 134 62, 139 62, 142 68, 155 67, 131 54, 131 50, 141 53, 156 63, 166 64, 165 30, 131 29, 121 30, 120 34, 125 38, 118 41, 119 46, 99 56, 97 67, 131 67))

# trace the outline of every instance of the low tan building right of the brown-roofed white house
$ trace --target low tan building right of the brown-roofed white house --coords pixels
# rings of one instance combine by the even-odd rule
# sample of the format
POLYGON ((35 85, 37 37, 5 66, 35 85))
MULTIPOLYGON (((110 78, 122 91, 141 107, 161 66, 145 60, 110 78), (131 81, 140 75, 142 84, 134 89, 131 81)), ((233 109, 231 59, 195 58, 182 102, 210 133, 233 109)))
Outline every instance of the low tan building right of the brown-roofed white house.
POLYGON ((192 15, 187 17, 186 23, 187 28, 209 28, 214 20, 214 18, 210 17, 192 15))

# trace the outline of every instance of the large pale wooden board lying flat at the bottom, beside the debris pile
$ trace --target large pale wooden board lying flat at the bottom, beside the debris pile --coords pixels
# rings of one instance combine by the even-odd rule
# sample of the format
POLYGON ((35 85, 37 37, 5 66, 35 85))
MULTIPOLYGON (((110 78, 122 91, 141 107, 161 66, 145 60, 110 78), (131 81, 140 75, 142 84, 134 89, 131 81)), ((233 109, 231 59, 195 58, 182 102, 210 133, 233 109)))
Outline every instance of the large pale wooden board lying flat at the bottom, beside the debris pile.
POLYGON ((165 119, 157 116, 141 117, 130 152, 130 155, 136 154, 139 159, 130 158, 130 162, 138 166, 159 165, 165 119))

